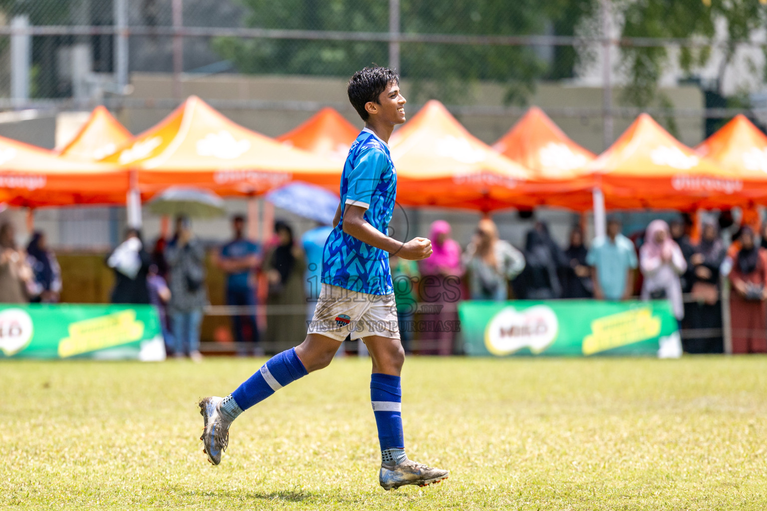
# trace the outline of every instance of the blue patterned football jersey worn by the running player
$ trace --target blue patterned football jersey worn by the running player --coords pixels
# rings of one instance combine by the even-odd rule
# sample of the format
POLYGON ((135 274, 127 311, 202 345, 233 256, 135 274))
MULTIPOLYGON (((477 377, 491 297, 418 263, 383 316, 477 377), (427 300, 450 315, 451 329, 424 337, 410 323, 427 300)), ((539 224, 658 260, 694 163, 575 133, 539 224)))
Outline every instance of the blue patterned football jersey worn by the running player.
POLYGON ((397 172, 389 146, 363 129, 349 149, 341 173, 341 221, 322 254, 322 282, 367 294, 393 293, 389 254, 344 233, 347 205, 367 208, 365 221, 387 234, 397 197, 397 172))

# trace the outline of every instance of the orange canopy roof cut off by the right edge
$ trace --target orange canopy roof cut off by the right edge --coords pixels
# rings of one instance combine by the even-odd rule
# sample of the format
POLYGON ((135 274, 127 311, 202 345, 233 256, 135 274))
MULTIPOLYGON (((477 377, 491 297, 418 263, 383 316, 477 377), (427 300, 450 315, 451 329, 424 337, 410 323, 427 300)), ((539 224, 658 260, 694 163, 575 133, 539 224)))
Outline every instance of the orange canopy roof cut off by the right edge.
POLYGON ((742 179, 741 197, 767 198, 767 136, 746 116, 739 113, 695 150, 742 179))

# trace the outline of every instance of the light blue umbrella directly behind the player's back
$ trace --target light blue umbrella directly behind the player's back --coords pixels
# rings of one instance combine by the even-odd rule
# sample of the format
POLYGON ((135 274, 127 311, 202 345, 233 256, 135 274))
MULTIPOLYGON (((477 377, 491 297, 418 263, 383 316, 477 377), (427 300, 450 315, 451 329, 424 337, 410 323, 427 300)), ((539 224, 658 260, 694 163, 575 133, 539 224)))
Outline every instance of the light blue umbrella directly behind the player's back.
POLYGON ((304 182, 292 182, 272 190, 266 194, 265 199, 278 208, 327 225, 333 224, 335 211, 341 200, 338 195, 324 188, 304 182))

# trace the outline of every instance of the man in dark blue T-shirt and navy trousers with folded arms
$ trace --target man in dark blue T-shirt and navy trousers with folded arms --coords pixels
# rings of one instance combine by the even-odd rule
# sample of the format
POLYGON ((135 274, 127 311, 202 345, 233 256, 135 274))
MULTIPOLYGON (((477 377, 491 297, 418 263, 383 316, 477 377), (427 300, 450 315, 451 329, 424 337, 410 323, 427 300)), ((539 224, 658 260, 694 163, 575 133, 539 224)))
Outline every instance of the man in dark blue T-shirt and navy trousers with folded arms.
MULTIPOLYGON (((245 238, 245 217, 236 215, 232 218, 234 239, 221 247, 216 265, 226 273, 226 305, 255 307, 255 278, 253 270, 260 263, 261 250, 258 244, 245 238)), ((239 355, 252 352, 262 355, 263 350, 258 346, 258 323, 255 312, 247 315, 232 316, 232 335, 238 343, 239 355), (247 329, 247 336, 243 330, 247 329), (252 349, 246 349, 242 344, 252 342, 252 349)))

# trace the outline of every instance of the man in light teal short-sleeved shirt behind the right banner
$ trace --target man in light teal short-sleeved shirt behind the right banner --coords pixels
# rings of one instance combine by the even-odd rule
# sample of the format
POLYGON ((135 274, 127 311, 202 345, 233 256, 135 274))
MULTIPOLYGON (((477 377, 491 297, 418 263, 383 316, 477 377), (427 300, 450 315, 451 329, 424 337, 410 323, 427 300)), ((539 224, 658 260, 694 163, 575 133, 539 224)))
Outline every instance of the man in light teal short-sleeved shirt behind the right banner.
POLYGON ((594 280, 597 300, 627 300, 634 291, 637 251, 631 240, 621 234, 621 221, 607 222, 607 236, 598 237, 586 256, 594 280))

